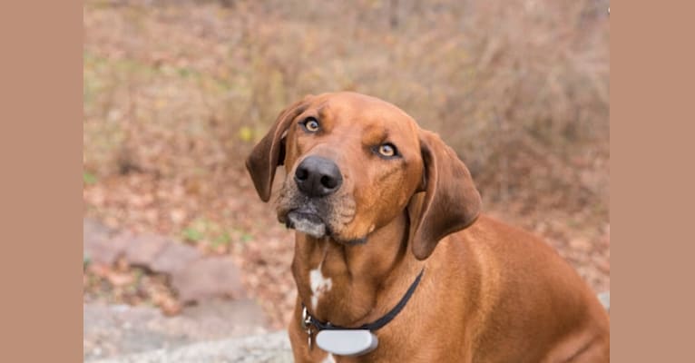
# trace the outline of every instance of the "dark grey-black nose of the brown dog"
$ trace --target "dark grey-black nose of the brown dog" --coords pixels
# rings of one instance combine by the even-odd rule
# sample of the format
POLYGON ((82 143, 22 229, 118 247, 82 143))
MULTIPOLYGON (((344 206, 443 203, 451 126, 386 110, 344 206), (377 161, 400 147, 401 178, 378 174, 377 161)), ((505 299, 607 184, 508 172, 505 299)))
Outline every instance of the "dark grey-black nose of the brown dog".
POLYGON ((294 173, 299 191, 309 197, 324 197, 338 191, 343 183, 343 176, 335 162, 318 156, 304 159, 294 173))

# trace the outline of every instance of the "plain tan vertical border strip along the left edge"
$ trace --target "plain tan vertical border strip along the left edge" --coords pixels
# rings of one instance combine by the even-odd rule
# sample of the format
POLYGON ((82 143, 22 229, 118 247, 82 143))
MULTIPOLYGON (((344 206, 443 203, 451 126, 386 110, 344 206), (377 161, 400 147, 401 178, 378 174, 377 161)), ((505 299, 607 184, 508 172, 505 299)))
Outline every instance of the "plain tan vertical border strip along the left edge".
POLYGON ((3 362, 82 361, 81 16, 0 5, 3 362))

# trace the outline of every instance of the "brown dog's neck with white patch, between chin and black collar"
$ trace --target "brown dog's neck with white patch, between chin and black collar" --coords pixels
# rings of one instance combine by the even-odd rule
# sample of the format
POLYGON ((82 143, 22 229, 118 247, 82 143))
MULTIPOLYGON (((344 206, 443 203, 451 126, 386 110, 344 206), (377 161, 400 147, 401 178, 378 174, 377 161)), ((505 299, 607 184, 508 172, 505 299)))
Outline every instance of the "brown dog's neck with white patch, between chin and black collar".
POLYGON ((408 253, 406 213, 373 231, 367 242, 340 244, 297 233, 292 272, 299 299, 321 321, 358 327, 378 319, 402 297, 422 262, 408 253))

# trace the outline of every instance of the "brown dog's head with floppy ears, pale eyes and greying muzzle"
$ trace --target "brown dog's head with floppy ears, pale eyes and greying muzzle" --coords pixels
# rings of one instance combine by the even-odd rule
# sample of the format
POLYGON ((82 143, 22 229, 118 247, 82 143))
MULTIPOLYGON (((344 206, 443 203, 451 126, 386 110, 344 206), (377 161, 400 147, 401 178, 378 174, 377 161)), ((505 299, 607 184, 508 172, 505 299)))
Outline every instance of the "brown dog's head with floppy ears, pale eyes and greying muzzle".
POLYGON ((422 260, 480 210, 470 172, 451 148, 393 104, 363 94, 307 96, 279 114, 246 162, 263 201, 279 165, 287 178, 278 219, 314 238, 364 242, 407 209, 422 260))

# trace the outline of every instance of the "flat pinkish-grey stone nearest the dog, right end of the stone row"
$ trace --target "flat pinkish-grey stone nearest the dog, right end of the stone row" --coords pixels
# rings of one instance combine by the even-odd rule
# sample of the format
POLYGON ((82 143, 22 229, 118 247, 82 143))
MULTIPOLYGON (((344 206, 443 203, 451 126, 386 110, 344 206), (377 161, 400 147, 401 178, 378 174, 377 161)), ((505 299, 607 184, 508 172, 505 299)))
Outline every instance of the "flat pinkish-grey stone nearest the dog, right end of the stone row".
POLYGON ((243 299, 240 272, 229 258, 203 258, 171 275, 171 285, 182 303, 216 297, 243 299))

